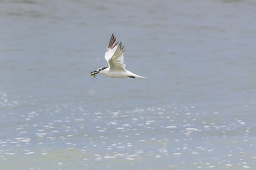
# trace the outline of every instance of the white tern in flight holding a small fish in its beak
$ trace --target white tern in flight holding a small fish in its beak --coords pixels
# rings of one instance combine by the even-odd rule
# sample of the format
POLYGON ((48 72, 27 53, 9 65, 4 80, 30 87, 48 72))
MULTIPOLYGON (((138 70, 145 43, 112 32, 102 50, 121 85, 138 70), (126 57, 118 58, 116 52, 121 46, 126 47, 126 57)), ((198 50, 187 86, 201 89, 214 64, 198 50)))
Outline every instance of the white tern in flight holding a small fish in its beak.
POLYGON ((116 38, 114 38, 114 34, 112 34, 109 45, 107 46, 107 51, 105 53, 105 59, 107 60, 109 67, 100 67, 99 69, 90 72, 90 76, 95 77, 95 74, 101 73, 107 77, 113 78, 145 78, 125 69, 123 50, 124 46, 122 46, 122 42, 119 43, 115 41, 116 38))

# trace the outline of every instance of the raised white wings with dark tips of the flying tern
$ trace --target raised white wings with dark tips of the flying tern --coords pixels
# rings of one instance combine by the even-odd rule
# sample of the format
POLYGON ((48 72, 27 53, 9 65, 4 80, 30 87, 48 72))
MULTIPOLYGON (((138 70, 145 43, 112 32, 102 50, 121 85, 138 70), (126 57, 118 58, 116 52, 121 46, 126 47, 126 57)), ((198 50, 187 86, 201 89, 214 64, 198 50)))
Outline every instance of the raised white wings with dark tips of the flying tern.
POLYGON ((110 70, 125 70, 123 50, 124 46, 122 46, 122 42, 120 42, 119 45, 117 45, 118 42, 115 41, 116 38, 114 38, 114 34, 112 34, 109 45, 107 47, 107 51, 105 53, 105 59, 109 64, 110 70))

